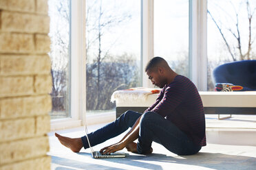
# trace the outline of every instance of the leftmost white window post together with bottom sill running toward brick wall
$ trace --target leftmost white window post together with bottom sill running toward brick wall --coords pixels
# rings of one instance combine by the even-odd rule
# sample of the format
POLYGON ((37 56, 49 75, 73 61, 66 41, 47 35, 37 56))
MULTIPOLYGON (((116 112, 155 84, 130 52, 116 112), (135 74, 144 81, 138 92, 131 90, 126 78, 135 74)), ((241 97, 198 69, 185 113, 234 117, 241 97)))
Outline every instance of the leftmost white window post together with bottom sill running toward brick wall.
POLYGON ((85 0, 70 0, 70 117, 51 120, 51 130, 85 123, 85 9, 85 0))

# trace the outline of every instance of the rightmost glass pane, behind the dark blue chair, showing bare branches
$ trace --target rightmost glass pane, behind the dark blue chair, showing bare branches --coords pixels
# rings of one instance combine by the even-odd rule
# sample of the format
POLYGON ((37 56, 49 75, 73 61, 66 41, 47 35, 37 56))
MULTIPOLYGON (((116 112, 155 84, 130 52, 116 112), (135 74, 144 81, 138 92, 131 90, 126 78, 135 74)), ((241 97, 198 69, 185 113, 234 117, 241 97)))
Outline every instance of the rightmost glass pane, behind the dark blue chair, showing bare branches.
POLYGON ((216 66, 256 59, 256 1, 208 1, 207 19, 208 90, 214 90, 216 66))

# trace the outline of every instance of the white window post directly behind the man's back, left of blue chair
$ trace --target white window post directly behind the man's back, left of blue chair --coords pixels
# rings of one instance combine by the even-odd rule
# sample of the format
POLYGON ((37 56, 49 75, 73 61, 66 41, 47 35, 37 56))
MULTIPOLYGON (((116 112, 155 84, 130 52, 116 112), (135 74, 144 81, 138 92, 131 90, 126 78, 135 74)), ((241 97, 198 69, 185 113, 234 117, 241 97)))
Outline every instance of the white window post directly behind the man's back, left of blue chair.
POLYGON ((207 90, 207 1, 189 1, 189 77, 207 90))

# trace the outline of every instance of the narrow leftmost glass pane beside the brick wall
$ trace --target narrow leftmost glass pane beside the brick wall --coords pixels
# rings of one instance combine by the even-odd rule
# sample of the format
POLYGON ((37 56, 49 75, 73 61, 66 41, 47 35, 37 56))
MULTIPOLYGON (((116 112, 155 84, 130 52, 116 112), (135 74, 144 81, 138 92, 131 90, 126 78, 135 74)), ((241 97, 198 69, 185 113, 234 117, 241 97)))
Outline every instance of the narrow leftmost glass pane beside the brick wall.
POLYGON ((70 1, 49 0, 52 60, 51 119, 70 117, 70 1))

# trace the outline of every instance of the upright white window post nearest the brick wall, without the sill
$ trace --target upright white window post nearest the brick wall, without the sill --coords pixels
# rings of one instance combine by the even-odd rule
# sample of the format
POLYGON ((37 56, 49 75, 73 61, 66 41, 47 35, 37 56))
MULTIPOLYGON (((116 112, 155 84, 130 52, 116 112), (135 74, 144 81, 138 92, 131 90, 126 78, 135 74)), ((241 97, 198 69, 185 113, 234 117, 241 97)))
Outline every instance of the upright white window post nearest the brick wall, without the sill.
POLYGON ((85 121, 85 1, 71 1, 71 117, 85 121))

